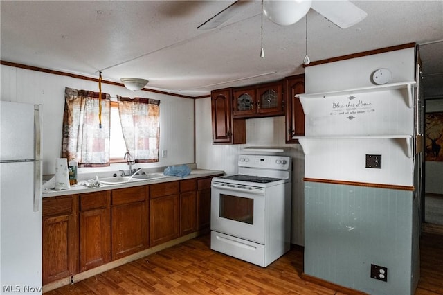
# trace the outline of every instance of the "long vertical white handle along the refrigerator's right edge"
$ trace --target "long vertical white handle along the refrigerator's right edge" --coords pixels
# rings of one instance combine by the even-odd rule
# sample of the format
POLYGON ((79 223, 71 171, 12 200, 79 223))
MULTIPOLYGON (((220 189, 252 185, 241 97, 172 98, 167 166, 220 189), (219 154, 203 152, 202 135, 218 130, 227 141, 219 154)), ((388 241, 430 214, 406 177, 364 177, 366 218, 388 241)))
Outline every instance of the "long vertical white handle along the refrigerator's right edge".
POLYGON ((42 195, 42 162, 40 161, 40 109, 34 105, 34 212, 39 211, 40 197, 42 195))

